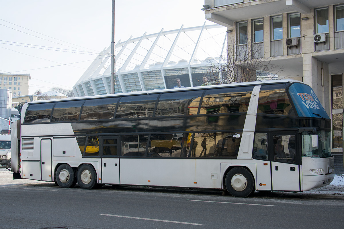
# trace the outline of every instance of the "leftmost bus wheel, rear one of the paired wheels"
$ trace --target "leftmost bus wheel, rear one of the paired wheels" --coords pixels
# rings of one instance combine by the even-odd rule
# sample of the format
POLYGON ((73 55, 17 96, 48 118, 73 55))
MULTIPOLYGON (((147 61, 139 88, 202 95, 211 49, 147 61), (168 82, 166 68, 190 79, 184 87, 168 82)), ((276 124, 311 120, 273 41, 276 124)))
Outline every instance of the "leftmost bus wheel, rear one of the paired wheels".
POLYGON ((55 173, 55 181, 62 188, 72 188, 76 184, 75 173, 68 164, 60 165, 55 173))

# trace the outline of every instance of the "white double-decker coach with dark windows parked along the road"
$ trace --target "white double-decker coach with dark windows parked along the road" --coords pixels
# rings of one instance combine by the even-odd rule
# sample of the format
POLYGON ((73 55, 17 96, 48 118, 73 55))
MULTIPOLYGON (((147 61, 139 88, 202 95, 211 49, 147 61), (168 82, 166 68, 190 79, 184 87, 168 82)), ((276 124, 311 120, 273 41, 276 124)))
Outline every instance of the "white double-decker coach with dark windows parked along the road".
POLYGON ((299 81, 35 101, 12 127, 14 178, 254 191, 331 183, 331 121, 299 81))

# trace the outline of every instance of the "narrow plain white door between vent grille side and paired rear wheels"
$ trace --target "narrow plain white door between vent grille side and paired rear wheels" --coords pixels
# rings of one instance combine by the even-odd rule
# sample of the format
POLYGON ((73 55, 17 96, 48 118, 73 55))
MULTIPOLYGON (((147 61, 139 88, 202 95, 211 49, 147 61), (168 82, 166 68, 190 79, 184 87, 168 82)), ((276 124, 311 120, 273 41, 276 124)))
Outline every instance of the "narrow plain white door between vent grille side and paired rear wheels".
POLYGON ((52 181, 53 171, 51 168, 51 154, 52 154, 51 139, 41 140, 41 180, 52 181))

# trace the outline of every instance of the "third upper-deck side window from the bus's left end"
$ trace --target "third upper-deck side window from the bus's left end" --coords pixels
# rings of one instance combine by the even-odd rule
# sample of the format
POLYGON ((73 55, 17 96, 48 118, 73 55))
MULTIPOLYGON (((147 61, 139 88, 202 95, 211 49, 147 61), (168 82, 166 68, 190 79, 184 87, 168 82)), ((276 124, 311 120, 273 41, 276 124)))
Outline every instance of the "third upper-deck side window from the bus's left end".
POLYGON ((118 98, 86 100, 81 112, 81 121, 111 119, 115 116, 118 98))

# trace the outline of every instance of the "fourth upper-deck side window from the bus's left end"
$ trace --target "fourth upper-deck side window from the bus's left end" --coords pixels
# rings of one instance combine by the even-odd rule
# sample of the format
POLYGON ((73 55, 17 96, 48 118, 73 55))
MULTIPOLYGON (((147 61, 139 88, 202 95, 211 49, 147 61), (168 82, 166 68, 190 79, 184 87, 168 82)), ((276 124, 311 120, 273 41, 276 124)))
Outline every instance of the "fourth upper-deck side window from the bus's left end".
POLYGON ((123 96, 116 118, 152 117, 158 94, 123 96))

